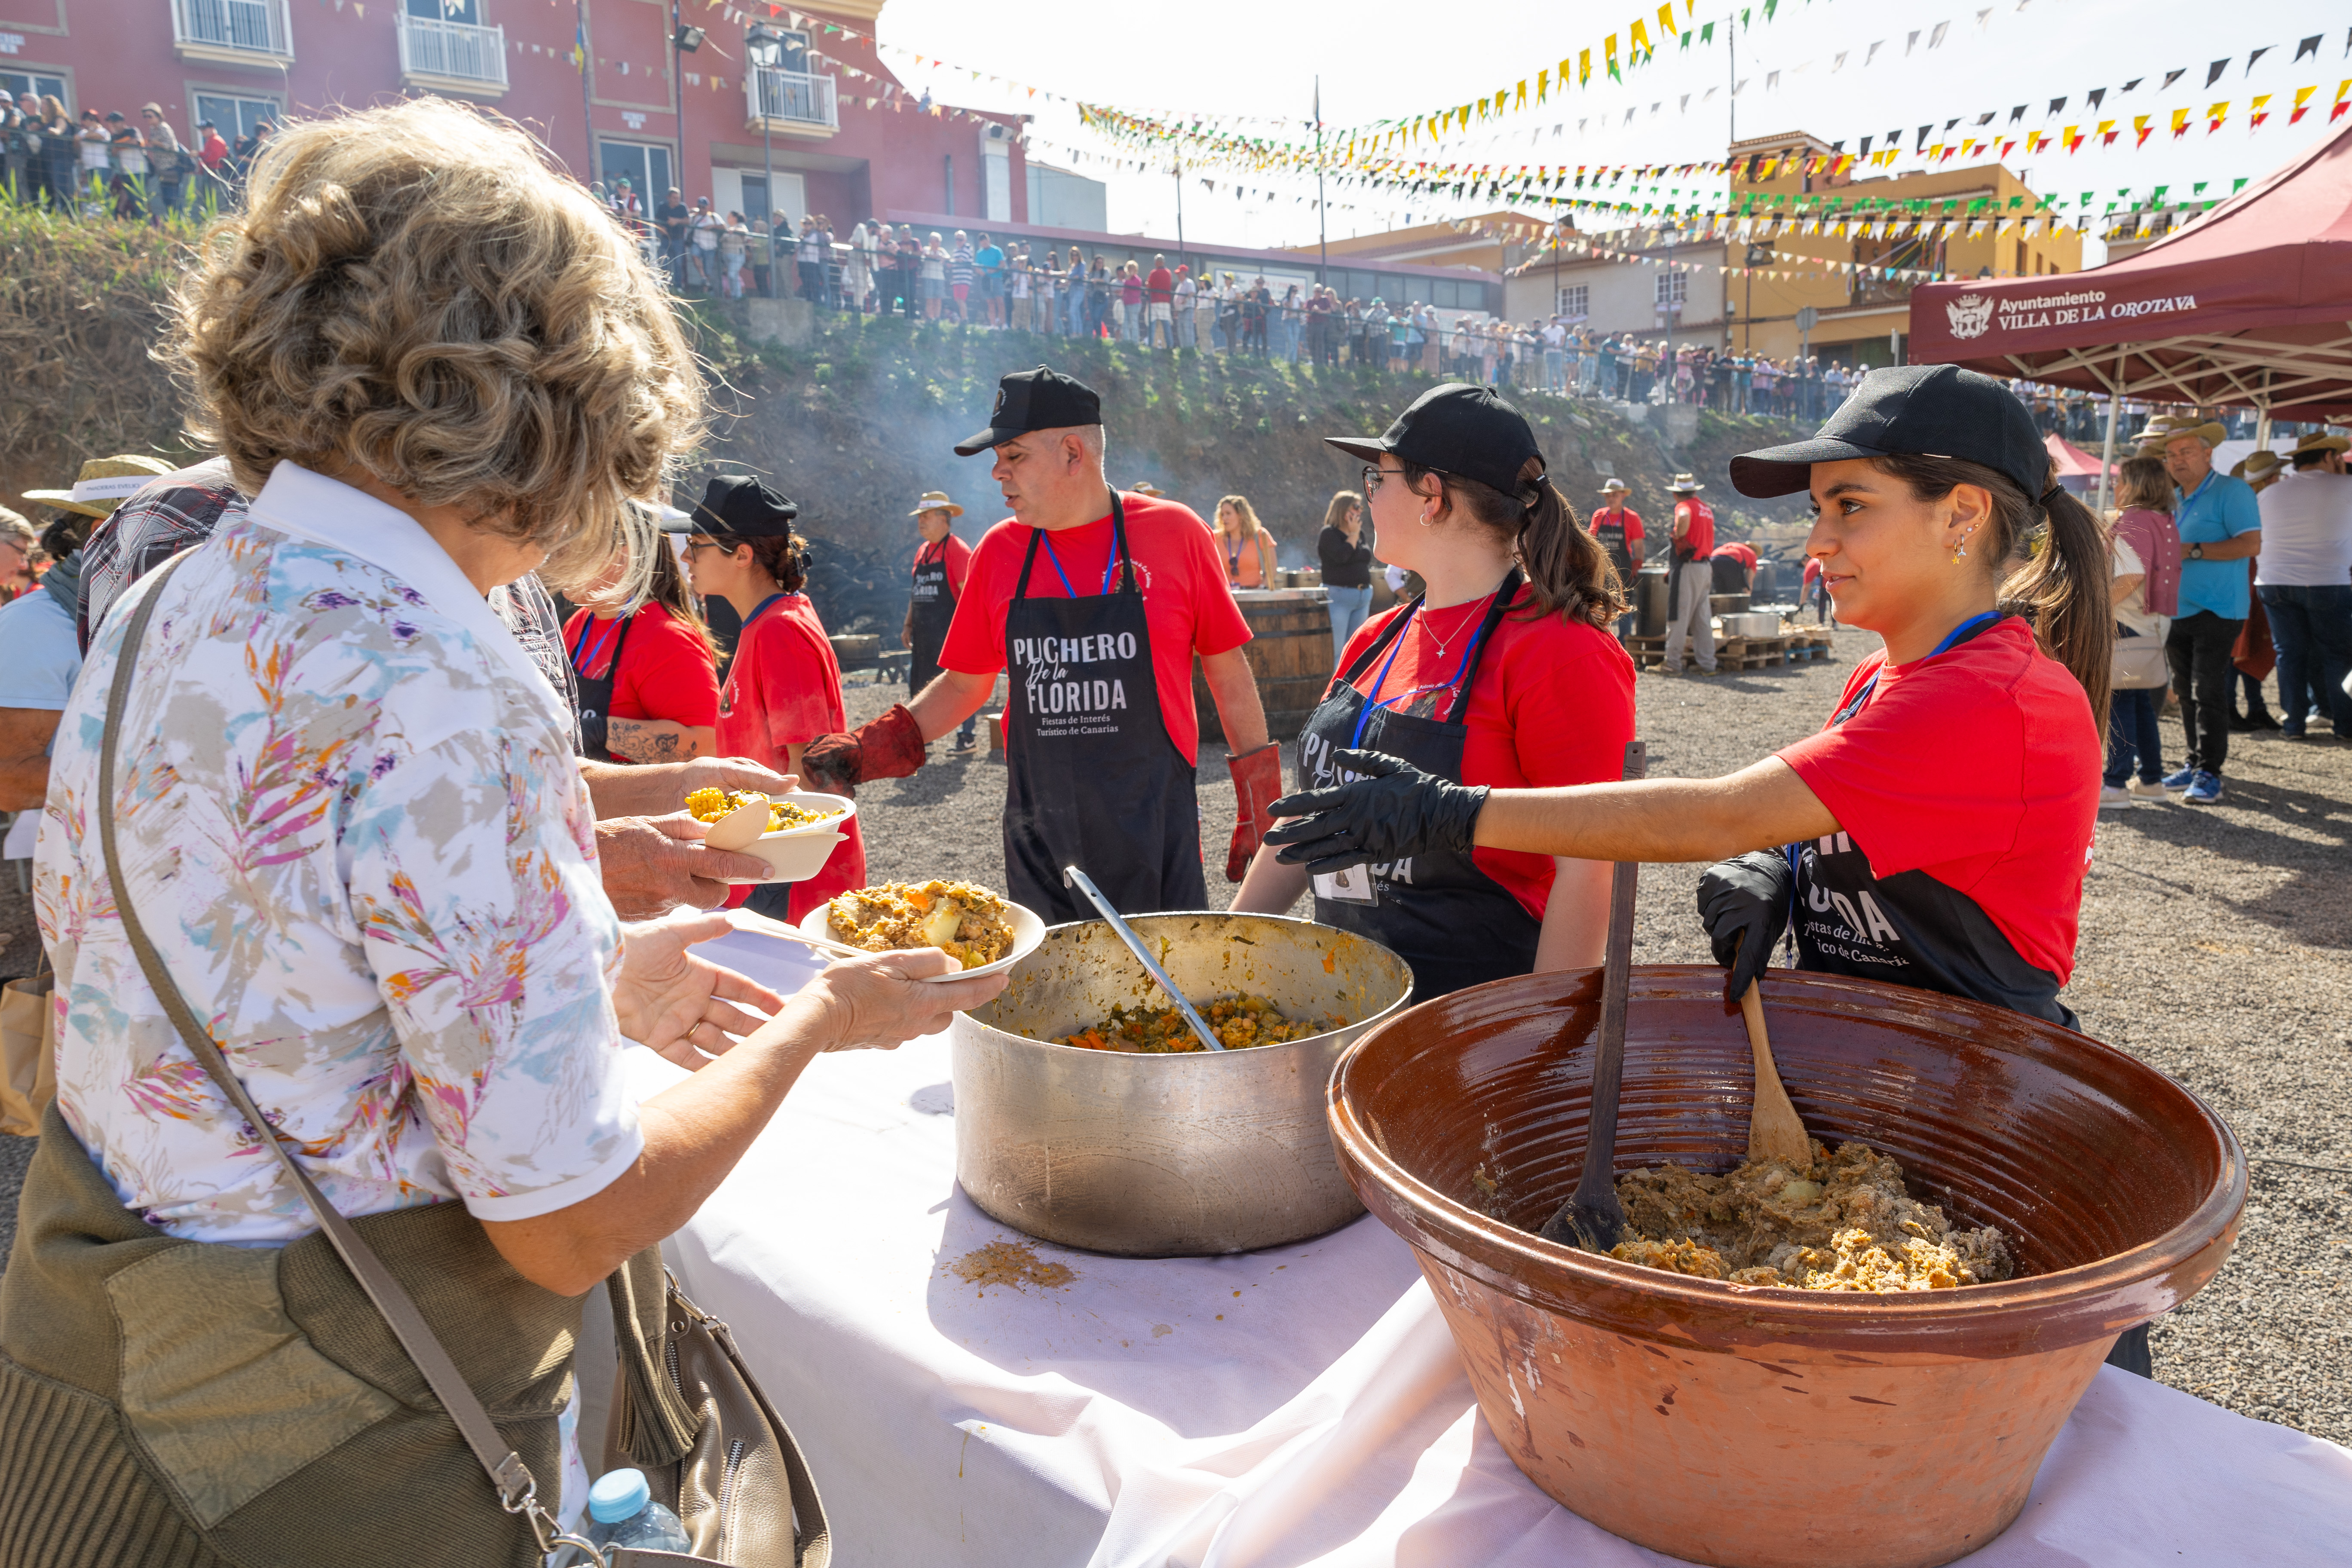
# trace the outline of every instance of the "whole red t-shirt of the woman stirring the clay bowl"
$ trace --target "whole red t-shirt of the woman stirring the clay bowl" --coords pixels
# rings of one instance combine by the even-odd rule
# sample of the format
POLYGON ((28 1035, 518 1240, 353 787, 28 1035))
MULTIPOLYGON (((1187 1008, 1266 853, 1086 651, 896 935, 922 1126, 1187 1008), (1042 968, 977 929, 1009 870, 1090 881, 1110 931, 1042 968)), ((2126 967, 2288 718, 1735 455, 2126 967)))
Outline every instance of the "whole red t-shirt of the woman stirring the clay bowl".
POLYGON ((1919 870, 1964 893, 2065 985, 2103 762, 2082 684, 2013 616, 1910 665, 1872 654, 1837 705, 1872 675, 1860 712, 1780 759, 1877 877, 1919 870))

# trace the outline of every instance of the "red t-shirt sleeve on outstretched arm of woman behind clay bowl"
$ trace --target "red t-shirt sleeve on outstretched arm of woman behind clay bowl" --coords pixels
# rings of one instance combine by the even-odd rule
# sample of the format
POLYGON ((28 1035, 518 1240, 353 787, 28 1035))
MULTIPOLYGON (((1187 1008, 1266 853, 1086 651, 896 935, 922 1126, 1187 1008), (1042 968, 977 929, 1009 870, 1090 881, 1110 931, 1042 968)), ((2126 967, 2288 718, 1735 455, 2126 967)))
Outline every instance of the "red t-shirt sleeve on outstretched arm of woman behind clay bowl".
MULTIPOLYGON (((1853 672, 1839 705, 1875 668, 1865 663, 1853 672)), ((1938 882, 1973 893, 1983 870, 2016 849, 2025 813, 2018 776, 2025 715, 1973 672, 1882 677, 1858 715, 1783 745, 1778 757, 1820 797, 1879 877, 1933 865, 1938 882)))

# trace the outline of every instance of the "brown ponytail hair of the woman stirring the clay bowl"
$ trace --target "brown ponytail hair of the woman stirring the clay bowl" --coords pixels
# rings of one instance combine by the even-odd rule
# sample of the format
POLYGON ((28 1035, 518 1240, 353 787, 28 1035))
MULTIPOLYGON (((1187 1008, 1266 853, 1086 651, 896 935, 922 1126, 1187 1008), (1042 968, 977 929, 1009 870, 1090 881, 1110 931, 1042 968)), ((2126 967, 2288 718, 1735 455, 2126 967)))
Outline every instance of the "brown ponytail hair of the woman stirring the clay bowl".
POLYGON ((2009 475, 1959 458, 1889 456, 1872 458, 1872 465, 1903 480, 1919 501, 1943 501, 1957 484, 1976 484, 1992 496, 1992 538, 1983 543, 1980 559, 1990 571, 2004 571, 2011 557, 2025 557, 2002 578, 1999 607, 2023 616, 2042 651, 2072 670, 2105 736, 2114 679, 2112 555, 2107 529, 2091 508, 2056 480, 2039 498, 2027 498, 2009 475))

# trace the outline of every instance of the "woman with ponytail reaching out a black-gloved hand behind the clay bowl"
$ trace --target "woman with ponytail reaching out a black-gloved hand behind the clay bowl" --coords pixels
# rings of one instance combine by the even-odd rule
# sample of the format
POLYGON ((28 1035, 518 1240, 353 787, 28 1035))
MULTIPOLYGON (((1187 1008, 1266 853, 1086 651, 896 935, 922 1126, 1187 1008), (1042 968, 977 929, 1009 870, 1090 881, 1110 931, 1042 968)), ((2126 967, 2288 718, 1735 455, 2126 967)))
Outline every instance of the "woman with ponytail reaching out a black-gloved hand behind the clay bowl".
POLYGON ((1813 440, 1731 458, 1731 484, 1811 489, 1806 552, 1837 618, 1886 642, 1820 733, 1729 778, 1578 790, 1489 792, 1343 752, 1334 766, 1371 778, 1275 802, 1305 820, 1265 842, 1317 879, 1496 849, 1722 860, 1698 912, 1733 999, 1795 922, 1797 969, 2072 1027, 2058 987, 2114 646, 2098 520, 2049 482, 2025 404, 1950 364, 1870 371, 1813 440))

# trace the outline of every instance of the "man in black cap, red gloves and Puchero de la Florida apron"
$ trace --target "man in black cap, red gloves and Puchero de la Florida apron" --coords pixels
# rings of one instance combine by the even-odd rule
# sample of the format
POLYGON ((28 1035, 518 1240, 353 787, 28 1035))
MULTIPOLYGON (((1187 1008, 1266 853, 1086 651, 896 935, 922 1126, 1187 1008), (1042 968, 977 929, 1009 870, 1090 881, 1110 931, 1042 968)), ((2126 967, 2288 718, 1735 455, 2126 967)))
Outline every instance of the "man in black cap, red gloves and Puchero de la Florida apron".
POLYGON ((988 529, 955 604, 943 672, 913 703, 804 752, 818 788, 903 778, 924 741, 955 729, 1011 670, 1004 708, 1004 879, 1047 922, 1089 919, 1063 886, 1080 865, 1122 914, 1207 907, 1192 766, 1200 656, 1232 750, 1240 823, 1225 875, 1240 882, 1282 752, 1265 738, 1258 682, 1225 564, 1192 508, 1110 489, 1103 404, 1040 364, 1004 376, 988 428, 957 456, 995 451, 1011 517, 988 529))

